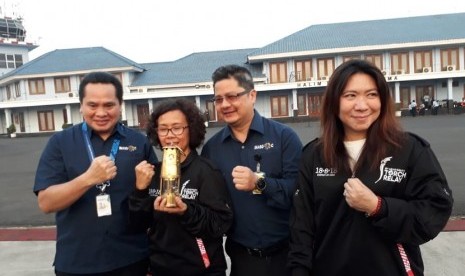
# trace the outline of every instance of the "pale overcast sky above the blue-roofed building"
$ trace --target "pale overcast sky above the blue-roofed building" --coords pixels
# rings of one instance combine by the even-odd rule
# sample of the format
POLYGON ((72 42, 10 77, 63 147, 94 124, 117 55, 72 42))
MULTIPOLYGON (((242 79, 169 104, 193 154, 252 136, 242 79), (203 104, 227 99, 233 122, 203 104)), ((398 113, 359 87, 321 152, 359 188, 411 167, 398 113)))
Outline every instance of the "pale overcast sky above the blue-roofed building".
MULTIPOLYGON (((462 0, 0 0, 21 16, 32 60, 105 47, 138 63, 260 48, 311 25, 465 12, 462 0)), ((465 23, 464 23, 465 24, 465 23)))

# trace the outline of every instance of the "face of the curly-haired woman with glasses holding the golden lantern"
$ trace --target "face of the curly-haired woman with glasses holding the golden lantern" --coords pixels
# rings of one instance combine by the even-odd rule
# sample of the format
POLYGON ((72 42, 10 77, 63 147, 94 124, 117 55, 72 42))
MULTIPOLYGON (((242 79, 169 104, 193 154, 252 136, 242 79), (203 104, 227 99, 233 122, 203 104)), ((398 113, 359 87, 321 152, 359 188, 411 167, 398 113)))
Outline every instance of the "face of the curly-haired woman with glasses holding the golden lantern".
MULTIPOLYGON (((186 116, 181 110, 172 110, 168 111, 160 117, 158 117, 158 139, 160 140, 161 147, 165 146, 178 146, 183 152, 184 156, 181 155, 181 161, 184 160, 185 156, 189 155, 190 148, 189 148, 189 124, 187 123, 186 116), (175 129, 183 129, 181 134, 174 134, 173 128, 175 129), (168 134, 166 136, 166 131, 168 134)), ((176 131, 175 131, 176 132, 176 131)))

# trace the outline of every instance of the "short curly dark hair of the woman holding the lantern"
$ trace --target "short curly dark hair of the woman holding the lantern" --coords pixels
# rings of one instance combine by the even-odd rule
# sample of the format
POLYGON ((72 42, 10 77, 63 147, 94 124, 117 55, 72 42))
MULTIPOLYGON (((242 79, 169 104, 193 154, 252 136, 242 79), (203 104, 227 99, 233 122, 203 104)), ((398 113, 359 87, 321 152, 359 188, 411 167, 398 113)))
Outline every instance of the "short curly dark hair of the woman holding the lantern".
POLYGON ((164 100, 155 107, 155 110, 150 114, 147 125, 147 137, 149 137, 152 145, 160 148, 160 139, 157 134, 158 118, 166 112, 173 110, 179 110, 186 116, 187 124, 189 125, 189 148, 195 150, 205 140, 207 130, 204 116, 193 101, 183 98, 164 100))

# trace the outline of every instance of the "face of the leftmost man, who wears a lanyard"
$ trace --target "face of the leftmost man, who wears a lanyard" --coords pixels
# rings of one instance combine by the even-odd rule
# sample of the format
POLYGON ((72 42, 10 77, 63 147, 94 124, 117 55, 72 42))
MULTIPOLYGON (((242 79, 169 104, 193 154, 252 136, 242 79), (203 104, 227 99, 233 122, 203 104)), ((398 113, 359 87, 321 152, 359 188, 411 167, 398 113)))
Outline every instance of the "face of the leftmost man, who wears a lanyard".
POLYGON ((121 104, 113 84, 88 83, 84 90, 81 113, 92 131, 106 140, 121 115, 121 104))

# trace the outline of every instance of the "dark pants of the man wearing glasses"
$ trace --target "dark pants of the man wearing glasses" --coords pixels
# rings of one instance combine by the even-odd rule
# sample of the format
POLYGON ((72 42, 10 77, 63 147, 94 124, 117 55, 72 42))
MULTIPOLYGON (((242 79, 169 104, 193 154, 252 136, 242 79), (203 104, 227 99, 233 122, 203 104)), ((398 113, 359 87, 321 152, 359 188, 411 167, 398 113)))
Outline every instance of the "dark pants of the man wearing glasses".
POLYGON ((280 246, 277 251, 259 256, 252 250, 226 240, 226 253, 231 258, 230 276, 287 276, 291 272, 286 267, 289 243, 280 246))

